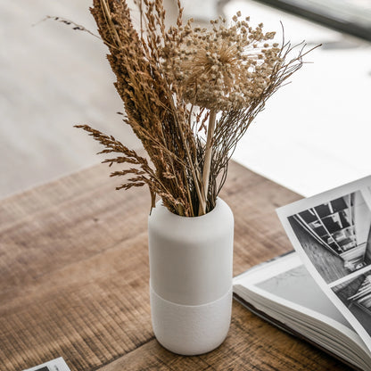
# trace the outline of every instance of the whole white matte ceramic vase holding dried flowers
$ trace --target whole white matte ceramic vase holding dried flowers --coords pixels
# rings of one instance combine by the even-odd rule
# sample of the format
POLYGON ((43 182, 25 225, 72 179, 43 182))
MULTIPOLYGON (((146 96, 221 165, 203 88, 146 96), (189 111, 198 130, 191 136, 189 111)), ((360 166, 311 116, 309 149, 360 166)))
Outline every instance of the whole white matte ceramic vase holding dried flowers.
POLYGON ((234 218, 226 202, 185 218, 157 202, 148 219, 153 332, 177 354, 214 350, 232 309, 234 218))

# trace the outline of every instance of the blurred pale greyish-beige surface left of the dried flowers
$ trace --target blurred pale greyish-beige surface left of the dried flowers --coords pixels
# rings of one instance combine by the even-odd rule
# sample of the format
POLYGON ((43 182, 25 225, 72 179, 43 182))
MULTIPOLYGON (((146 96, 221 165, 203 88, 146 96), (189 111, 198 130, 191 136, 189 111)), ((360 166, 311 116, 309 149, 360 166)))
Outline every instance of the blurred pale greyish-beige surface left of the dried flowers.
POLYGON ((101 161, 95 153, 102 148, 73 128, 78 123, 139 146, 116 113, 123 108, 106 46, 41 21, 64 17, 95 32, 91 3, 0 1, 0 199, 101 161))

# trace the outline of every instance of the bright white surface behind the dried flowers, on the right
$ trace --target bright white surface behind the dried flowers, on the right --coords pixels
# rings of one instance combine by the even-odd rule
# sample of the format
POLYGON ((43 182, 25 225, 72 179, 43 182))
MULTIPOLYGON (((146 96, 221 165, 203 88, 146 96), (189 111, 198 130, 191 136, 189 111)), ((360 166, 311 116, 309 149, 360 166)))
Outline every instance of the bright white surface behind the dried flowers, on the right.
POLYGON ((238 10, 266 31, 281 29, 282 21, 293 44, 324 46, 269 99, 234 160, 304 196, 371 174, 371 46, 249 1, 227 4, 227 19, 238 10), (338 42, 358 46, 328 48, 338 42))

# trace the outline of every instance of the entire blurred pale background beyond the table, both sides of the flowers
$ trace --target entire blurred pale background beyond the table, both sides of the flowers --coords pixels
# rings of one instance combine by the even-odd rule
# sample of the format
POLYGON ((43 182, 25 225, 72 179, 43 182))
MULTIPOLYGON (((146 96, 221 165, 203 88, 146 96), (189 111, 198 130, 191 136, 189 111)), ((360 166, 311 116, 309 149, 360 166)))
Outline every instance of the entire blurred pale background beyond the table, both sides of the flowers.
MULTIPOLYGON (((128 2, 132 4, 132 2, 128 2)), ((169 23, 174 0, 164 0, 169 23)), ((56 21, 95 32, 91 0, 0 2, 0 198, 102 160, 73 125, 89 124, 134 149, 103 43, 56 21)), ((369 0, 188 0, 185 18, 237 11, 293 45, 322 44, 268 101, 234 160, 309 196, 371 174, 371 2, 369 0)), ((109 169, 102 165, 103 171, 109 169)))

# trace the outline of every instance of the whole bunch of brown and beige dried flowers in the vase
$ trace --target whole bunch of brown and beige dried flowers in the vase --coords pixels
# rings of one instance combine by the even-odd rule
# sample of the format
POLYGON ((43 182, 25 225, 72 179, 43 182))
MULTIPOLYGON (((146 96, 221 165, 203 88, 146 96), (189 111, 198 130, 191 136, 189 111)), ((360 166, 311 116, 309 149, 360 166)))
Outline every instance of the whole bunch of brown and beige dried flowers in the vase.
POLYGON ((162 0, 136 4, 140 32, 125 0, 94 0, 91 12, 110 51, 123 120, 150 161, 112 136, 77 127, 103 144, 102 153, 115 153, 103 162, 132 166, 111 173, 131 176, 117 189, 148 185, 152 207, 157 194, 171 212, 200 216, 215 206, 235 145, 308 52, 287 61, 293 47, 272 43, 274 32, 252 29, 240 12, 229 27, 219 19, 201 29, 183 23, 178 2, 177 25, 167 29, 162 0))

